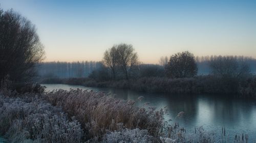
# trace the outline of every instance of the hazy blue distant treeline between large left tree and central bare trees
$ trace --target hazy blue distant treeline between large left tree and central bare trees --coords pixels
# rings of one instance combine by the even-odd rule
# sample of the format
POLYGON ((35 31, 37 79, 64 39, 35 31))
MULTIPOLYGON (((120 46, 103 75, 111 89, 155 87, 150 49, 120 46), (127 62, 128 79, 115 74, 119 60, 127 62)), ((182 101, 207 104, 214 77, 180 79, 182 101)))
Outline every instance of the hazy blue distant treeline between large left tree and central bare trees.
POLYGON ((101 62, 42 62, 37 66, 38 75, 43 78, 88 77, 92 71, 102 67, 101 62))

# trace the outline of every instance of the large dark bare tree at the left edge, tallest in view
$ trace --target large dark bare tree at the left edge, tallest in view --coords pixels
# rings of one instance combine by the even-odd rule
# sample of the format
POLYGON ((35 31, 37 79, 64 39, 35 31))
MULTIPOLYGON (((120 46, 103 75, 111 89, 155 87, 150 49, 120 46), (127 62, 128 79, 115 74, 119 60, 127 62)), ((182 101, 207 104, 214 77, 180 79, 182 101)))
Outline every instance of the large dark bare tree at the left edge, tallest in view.
POLYGON ((14 81, 28 80, 44 59, 44 46, 28 19, 13 10, 0 14, 0 79, 9 75, 14 81))

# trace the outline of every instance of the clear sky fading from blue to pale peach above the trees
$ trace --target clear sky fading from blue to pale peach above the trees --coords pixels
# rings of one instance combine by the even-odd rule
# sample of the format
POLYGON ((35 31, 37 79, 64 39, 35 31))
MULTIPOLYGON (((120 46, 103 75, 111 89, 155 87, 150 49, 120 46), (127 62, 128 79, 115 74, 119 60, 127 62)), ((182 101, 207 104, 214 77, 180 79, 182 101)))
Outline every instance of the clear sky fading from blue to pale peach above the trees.
POLYGON ((37 27, 49 61, 101 61, 132 44, 143 63, 188 50, 256 58, 256 1, 0 0, 37 27))

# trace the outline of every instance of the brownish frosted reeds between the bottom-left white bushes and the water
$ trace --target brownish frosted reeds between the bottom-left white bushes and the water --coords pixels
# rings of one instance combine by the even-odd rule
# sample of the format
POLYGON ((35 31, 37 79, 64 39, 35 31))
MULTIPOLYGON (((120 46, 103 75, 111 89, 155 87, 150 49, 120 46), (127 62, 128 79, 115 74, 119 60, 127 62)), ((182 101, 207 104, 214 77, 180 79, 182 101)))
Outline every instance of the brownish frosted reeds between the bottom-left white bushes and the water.
POLYGON ((120 123, 125 128, 146 129, 157 136, 164 122, 164 109, 136 107, 135 101, 112 98, 102 92, 59 90, 48 93, 47 100, 62 107, 70 117, 76 116, 88 139, 102 136, 107 130, 119 130, 120 123))

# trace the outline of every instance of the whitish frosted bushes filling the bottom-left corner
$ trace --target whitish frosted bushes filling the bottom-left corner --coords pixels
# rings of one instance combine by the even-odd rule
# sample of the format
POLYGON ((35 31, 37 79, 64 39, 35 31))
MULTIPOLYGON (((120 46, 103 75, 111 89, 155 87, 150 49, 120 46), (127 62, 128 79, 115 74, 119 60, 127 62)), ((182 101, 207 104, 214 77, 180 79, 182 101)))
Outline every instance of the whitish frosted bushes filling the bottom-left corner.
POLYGON ((0 135, 10 142, 80 142, 83 131, 60 108, 34 95, 0 95, 0 135))

